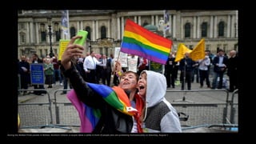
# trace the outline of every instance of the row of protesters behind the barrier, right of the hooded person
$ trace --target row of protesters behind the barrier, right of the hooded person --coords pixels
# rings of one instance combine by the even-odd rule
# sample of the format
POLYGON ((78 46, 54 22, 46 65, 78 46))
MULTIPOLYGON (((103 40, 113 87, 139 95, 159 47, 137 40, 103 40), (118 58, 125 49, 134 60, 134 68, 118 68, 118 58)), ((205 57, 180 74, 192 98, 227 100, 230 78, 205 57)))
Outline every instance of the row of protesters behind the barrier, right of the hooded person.
POLYGON ((230 92, 238 89, 238 54, 236 50, 230 50, 229 55, 222 49, 217 50, 217 54, 210 54, 210 50, 205 51, 205 58, 194 61, 190 58, 190 53, 186 52, 181 61, 175 62, 175 54, 170 53, 165 65, 165 76, 167 88, 175 83, 182 83, 181 90, 191 90, 191 83, 197 82, 198 88, 203 88, 204 83, 207 88, 226 89, 230 92), (180 72, 179 79, 177 77, 180 72), (224 78, 227 75, 229 82, 224 78), (212 79, 210 80, 210 75, 212 79), (185 86, 186 85, 186 86, 185 86))

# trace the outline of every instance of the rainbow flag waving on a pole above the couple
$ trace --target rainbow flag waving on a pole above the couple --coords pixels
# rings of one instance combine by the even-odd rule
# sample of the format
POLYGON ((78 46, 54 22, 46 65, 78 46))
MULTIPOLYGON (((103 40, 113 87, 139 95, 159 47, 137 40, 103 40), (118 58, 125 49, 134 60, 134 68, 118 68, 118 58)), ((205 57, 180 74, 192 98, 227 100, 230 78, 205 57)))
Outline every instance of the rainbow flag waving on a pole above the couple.
POLYGON ((121 51, 147 58, 153 62, 166 64, 172 41, 146 30, 130 19, 126 20, 121 51))

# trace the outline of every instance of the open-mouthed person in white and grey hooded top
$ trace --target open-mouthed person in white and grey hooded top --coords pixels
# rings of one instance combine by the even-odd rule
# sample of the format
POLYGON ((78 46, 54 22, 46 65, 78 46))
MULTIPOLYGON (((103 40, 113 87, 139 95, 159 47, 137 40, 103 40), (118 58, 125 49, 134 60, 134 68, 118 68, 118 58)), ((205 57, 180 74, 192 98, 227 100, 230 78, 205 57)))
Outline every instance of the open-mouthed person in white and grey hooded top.
POLYGON ((145 100, 142 110, 143 132, 182 132, 178 113, 166 100, 166 78, 163 74, 143 70, 138 79, 138 94, 145 100))

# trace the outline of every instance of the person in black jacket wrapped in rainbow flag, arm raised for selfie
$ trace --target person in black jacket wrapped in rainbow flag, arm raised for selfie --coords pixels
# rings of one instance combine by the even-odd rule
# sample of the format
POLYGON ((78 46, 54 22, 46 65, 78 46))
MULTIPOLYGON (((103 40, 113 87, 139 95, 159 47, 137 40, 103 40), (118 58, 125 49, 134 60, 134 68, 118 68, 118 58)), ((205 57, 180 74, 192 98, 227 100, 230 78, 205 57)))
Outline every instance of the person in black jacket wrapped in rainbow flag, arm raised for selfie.
POLYGON ((118 86, 85 82, 72 61, 84 50, 83 46, 73 44, 77 38, 81 36, 71 38, 62 54, 61 70, 74 89, 67 95, 78 110, 80 131, 95 134, 141 133, 144 101, 138 95, 138 74, 132 71, 122 74, 122 67, 117 62, 118 86))

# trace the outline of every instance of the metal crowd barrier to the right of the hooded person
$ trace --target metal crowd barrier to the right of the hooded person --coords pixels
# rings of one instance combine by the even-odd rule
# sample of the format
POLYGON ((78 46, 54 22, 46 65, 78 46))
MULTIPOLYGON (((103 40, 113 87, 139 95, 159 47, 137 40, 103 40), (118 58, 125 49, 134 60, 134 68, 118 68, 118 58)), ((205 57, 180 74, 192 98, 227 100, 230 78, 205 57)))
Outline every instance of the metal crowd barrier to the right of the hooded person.
MULTIPOLYGON (((174 97, 179 96, 180 99, 174 99, 171 102, 172 106, 178 111, 178 113, 183 113, 187 115, 186 121, 181 120, 182 129, 187 130, 191 128, 207 127, 207 126, 234 126, 238 127, 238 102, 234 102, 234 91, 232 98, 229 98, 228 90, 167 90, 166 93, 171 93, 174 97), (212 95, 218 92, 216 95, 212 95), (203 97, 210 96, 212 98, 218 99, 219 94, 222 96, 226 95, 226 100, 222 98, 222 101, 211 102, 210 100, 205 100, 203 97), (177 93, 177 94, 175 94, 177 93), (178 94, 179 93, 179 94, 178 94), (201 93, 201 94, 198 94, 201 93), (185 96, 188 95, 189 96, 185 96), (210 95, 211 94, 211 95, 210 95), (181 98, 182 97, 182 98, 181 98), (189 98, 189 100, 188 100, 189 98), (200 102, 197 102, 200 100, 200 102), (201 102, 201 101, 207 102, 201 102)), ((209 98, 210 99, 210 98, 209 98)))

